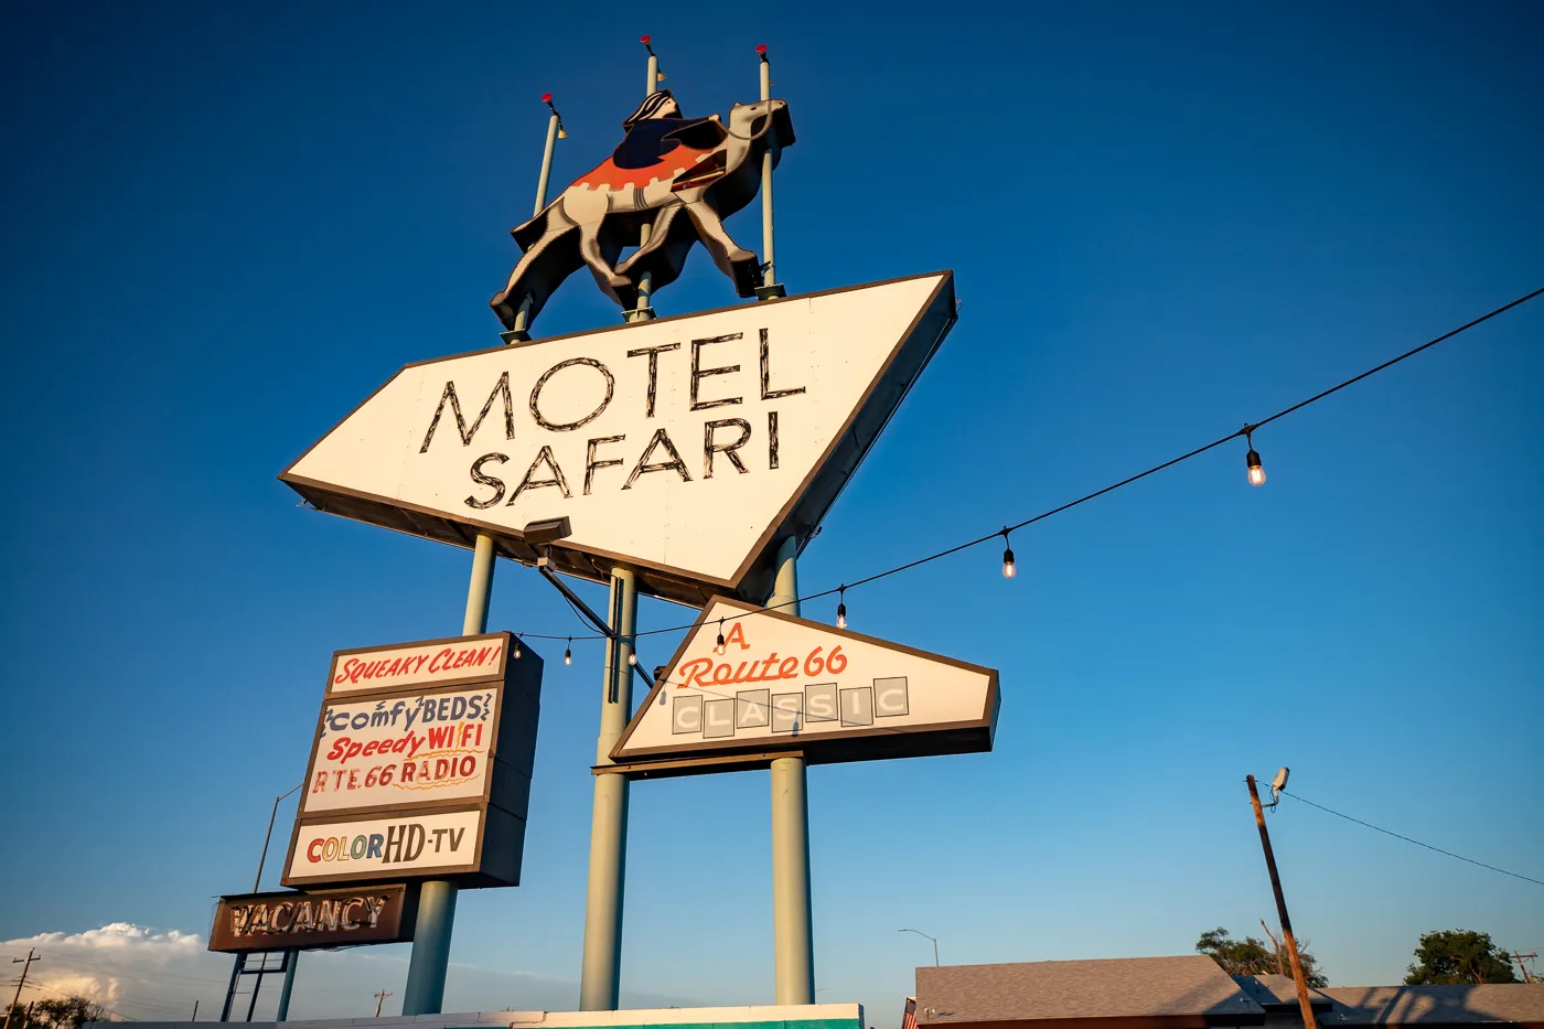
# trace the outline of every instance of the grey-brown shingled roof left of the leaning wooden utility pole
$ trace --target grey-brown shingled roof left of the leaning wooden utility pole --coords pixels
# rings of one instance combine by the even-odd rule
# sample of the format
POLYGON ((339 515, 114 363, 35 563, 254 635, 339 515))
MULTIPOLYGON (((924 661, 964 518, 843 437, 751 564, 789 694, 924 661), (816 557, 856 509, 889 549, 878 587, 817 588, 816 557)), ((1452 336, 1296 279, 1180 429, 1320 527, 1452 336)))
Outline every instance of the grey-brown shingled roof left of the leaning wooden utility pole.
POLYGON ((1206 955, 917 969, 917 1024, 1064 1018, 1263 1021, 1206 955))

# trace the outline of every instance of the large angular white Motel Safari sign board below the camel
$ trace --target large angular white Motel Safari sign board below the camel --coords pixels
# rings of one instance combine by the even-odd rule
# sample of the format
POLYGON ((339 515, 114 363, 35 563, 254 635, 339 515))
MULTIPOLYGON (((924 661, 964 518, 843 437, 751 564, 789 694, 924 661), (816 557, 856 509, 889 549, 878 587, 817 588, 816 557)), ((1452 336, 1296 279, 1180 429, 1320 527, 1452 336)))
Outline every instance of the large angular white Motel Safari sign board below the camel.
POLYGON ((408 365, 279 476, 320 510, 701 606, 761 599, 954 323, 954 277, 408 365))

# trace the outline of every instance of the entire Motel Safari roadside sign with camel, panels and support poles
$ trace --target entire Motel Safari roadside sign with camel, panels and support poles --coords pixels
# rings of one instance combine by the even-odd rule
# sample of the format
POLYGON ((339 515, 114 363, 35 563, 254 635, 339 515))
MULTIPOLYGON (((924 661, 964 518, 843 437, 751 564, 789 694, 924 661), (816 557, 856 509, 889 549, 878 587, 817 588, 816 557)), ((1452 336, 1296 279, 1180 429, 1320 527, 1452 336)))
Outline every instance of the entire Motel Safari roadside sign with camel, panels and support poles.
POLYGON ((334 655, 283 876, 298 891, 218 915, 238 953, 412 939, 403 1015, 442 1007, 459 890, 519 882, 542 664, 488 633, 499 556, 607 640, 584 1010, 618 1006, 633 779, 770 769, 775 997, 812 1004, 806 765, 991 749, 994 671, 798 616, 798 553, 953 328, 954 277, 787 297, 772 173, 795 136, 766 46, 757 100, 687 117, 641 42, 624 141, 551 201, 567 133, 542 97, 536 205, 489 301, 505 345, 401 368, 279 476, 317 510, 472 550, 462 637, 334 655), (723 224, 757 193, 761 258, 723 224), (696 244, 766 303, 656 318, 696 244), (533 340, 581 269, 622 324, 533 340), (605 582, 605 618, 556 573, 605 582), (635 712, 639 593, 701 616, 635 712))

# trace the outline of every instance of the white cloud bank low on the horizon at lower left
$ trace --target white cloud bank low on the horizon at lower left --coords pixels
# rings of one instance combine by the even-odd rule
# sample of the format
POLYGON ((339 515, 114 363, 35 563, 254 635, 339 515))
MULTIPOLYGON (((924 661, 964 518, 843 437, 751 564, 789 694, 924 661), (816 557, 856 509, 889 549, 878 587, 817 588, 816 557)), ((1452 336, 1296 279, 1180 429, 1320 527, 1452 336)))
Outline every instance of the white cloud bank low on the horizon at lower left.
MULTIPOLYGON (((198 933, 159 932, 128 922, 0 941, 0 955, 22 956, 29 947, 42 961, 28 972, 23 1003, 80 993, 119 1018, 137 1021, 185 1021, 195 1001, 199 1021, 218 1018, 232 969, 232 956, 205 950, 198 933)), ((273 1017, 281 978, 264 978, 255 1018, 273 1017)), ((306 952, 295 978, 290 1017, 369 1015, 375 1010, 374 993, 381 989, 394 993, 381 1014, 397 1014, 406 978, 406 946, 306 952)), ((577 998, 579 984, 573 980, 455 963, 446 981, 445 1010, 570 1010, 577 998)), ((239 998, 239 1004, 236 1018, 245 1017, 247 998, 239 998)), ((692 1001, 630 993, 624 1004, 669 1007, 692 1001)))

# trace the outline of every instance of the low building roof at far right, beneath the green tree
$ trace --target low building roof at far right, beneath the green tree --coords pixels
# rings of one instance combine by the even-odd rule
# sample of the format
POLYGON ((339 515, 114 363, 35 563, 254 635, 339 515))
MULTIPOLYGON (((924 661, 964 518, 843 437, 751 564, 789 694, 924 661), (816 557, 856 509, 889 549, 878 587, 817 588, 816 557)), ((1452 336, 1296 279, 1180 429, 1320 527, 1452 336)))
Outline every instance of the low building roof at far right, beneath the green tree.
POLYGON ((1544 1026, 1544 986, 1329 986, 1322 1021, 1334 1026, 1515 1023, 1544 1026))

